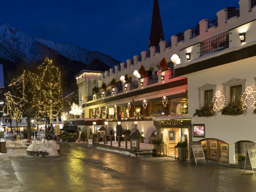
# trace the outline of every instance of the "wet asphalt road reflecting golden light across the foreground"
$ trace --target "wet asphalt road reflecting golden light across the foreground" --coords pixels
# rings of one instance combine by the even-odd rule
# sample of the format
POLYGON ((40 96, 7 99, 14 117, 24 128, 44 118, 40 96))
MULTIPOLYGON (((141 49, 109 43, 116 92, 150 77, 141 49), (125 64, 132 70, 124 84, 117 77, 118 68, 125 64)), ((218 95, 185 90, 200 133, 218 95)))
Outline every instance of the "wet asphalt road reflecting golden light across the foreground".
POLYGON ((256 191, 248 170, 59 144, 60 157, 26 156, 26 149, 0 155, 0 191, 256 191))

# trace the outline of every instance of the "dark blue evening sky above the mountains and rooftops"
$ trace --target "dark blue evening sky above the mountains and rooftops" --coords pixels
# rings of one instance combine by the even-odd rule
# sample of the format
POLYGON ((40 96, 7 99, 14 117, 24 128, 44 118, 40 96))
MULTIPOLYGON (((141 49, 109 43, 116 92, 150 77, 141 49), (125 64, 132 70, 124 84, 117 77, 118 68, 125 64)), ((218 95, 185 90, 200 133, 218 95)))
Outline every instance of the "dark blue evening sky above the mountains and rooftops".
MULTIPOLYGON (((159 0, 165 40, 236 5, 238 0, 159 0)), ((6 0, 0 10, 0 25, 125 62, 147 50, 153 0, 6 0)))

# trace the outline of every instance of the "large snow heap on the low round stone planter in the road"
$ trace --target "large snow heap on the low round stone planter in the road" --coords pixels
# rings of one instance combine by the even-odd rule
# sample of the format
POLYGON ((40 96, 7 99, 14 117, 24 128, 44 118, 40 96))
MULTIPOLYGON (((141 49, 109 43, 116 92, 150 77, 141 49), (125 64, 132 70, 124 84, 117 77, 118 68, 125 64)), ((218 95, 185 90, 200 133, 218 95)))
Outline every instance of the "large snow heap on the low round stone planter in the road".
POLYGON ((48 157, 59 156, 59 145, 55 141, 32 141, 32 144, 28 146, 27 151, 43 151, 48 152, 48 157))

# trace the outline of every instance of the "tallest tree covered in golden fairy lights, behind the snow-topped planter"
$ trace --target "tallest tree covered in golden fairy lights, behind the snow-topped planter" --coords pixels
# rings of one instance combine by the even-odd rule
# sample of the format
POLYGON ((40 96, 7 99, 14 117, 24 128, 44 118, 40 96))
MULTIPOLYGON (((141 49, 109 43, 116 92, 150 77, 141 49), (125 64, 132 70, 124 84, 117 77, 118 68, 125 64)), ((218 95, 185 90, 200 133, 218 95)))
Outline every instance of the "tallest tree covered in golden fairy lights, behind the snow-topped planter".
POLYGON ((61 74, 58 67, 53 65, 49 58, 45 59, 42 65, 37 67, 39 75, 36 79, 37 102, 34 107, 38 108, 49 121, 49 130, 53 128, 53 119, 56 118, 63 107, 61 74))

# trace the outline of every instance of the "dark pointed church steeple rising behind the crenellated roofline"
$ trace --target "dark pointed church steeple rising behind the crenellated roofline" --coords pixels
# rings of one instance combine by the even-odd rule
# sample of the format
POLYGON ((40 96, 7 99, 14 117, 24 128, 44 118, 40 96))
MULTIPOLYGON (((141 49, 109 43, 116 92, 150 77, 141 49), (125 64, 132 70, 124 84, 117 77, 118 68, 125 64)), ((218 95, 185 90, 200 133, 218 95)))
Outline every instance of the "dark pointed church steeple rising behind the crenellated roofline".
POLYGON ((160 10, 158 5, 158 0, 154 0, 153 14, 151 29, 148 42, 148 50, 152 46, 158 47, 159 43, 164 40, 163 28, 160 16, 160 10))

